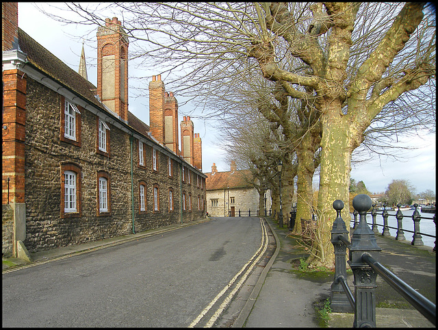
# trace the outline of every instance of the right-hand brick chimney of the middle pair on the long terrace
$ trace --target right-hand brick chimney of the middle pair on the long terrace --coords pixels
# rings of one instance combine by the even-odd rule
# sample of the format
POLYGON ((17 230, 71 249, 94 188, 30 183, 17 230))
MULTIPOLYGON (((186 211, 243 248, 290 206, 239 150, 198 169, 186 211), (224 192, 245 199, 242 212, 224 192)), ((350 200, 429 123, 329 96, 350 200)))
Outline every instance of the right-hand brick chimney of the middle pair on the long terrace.
POLYGON ((172 92, 164 93, 164 108, 164 143, 178 155, 178 101, 172 92))

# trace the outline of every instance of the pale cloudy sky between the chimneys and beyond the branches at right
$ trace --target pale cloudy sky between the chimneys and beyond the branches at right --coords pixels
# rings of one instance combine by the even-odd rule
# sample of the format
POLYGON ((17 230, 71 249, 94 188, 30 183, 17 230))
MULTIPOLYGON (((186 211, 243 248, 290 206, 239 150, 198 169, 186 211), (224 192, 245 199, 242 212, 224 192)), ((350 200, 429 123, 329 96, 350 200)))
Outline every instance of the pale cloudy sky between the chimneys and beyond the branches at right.
MULTIPOLYGON (((59 4, 57 4, 59 5, 59 4)), ((44 3, 38 7, 50 10, 44 3)), ((109 14, 107 17, 112 18, 109 14)), ((118 18, 121 21, 120 17, 118 18)), ((18 3, 18 26, 31 38, 51 51, 57 58, 77 71, 82 44, 85 50, 88 80, 97 84, 96 69, 96 26, 63 25, 42 14, 34 7, 34 3, 18 3), (86 36, 86 39, 82 38, 86 36)), ((129 62, 129 111, 149 125, 149 92, 147 86, 152 75, 159 72, 140 69, 138 62, 129 62), (146 79, 144 79, 146 77, 146 79), (138 87, 146 88, 146 92, 139 92, 138 87)), ((166 88, 166 80, 164 79, 166 88)), ((172 92, 172 90, 166 91, 172 92)), ((178 100, 177 94, 175 95, 178 100)), ((179 121, 183 116, 190 116, 194 123, 194 133, 199 133, 202 139, 203 172, 211 172, 211 166, 216 164, 218 171, 230 170, 230 165, 225 160, 226 151, 220 149, 218 127, 220 123, 213 120, 196 118, 196 111, 190 104, 183 104, 179 100, 179 121)), ((400 151, 404 157, 394 160, 391 157, 374 157, 368 162, 353 164, 350 177, 356 182, 363 181, 370 192, 385 192, 392 180, 404 179, 409 181, 415 192, 432 190, 436 192, 436 136, 435 134, 422 134, 421 138, 400 139, 400 146, 415 147, 411 151, 400 151)), ((318 182, 318 177, 314 178, 318 182)), ((316 185, 318 186, 318 185, 316 185)))

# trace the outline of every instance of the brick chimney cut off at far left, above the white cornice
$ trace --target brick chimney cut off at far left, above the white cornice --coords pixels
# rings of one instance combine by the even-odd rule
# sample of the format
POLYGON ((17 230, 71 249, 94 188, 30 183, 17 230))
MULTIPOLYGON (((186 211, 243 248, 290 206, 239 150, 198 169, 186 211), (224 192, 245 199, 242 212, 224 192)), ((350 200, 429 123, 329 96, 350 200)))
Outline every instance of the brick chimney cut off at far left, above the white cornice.
POLYGON ((2 2, 1 51, 16 49, 15 45, 18 45, 18 2, 2 2))

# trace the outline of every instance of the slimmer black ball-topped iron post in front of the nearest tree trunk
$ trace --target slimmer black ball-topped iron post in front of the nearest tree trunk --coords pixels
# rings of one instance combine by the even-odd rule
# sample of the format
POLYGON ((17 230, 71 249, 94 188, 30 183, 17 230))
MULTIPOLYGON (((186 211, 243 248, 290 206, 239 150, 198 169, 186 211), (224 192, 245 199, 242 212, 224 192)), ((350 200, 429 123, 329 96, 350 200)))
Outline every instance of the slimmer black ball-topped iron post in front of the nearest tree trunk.
POLYGON ((344 202, 337 199, 333 202, 333 208, 337 212, 337 217, 331 229, 331 242, 335 250, 335 277, 330 287, 331 309, 333 312, 350 313, 352 312, 352 307, 344 288, 342 288, 342 284, 338 281, 339 277, 344 277, 345 280, 347 279, 347 246, 339 240, 339 236, 343 236, 346 240, 349 238, 347 227, 341 218, 341 210, 344 208, 344 202))

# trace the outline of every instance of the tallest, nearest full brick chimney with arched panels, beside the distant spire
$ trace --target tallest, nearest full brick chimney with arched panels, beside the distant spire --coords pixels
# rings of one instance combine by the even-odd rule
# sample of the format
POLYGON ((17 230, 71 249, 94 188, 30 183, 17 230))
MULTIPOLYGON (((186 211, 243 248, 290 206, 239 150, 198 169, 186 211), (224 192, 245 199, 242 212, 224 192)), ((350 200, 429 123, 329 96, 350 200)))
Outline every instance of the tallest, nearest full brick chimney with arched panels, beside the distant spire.
POLYGON ((117 17, 97 29, 97 94, 102 103, 128 121, 128 46, 117 17))

